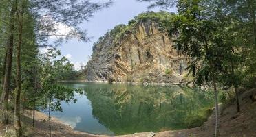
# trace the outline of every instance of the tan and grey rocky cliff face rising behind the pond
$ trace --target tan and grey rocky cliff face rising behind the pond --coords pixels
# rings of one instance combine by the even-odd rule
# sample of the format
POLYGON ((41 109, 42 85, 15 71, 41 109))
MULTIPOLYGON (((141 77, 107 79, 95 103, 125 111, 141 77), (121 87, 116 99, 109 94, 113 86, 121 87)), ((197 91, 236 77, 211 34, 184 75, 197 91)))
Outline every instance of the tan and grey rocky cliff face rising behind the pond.
POLYGON ((173 42, 160 31, 165 12, 138 15, 129 25, 118 25, 94 44, 87 63, 89 81, 166 82, 182 81, 186 61, 173 42))

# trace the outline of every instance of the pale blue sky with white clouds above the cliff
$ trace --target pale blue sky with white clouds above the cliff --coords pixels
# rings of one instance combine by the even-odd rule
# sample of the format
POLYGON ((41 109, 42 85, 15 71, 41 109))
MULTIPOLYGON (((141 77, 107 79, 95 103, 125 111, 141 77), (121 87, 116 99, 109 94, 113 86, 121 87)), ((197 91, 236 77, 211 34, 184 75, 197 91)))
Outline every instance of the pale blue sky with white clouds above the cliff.
MULTIPOLYGON (((81 25, 82 29, 87 30, 88 36, 92 37, 90 42, 72 39, 67 43, 63 43, 57 49, 61 50, 61 55, 70 60, 75 69, 78 70, 89 61, 89 57, 92 55, 93 43, 109 29, 118 24, 127 24, 129 20, 141 12, 159 10, 157 8, 147 9, 148 5, 149 3, 139 3, 136 0, 114 0, 114 4, 111 7, 96 12, 89 22, 81 25)), ((170 12, 175 12, 175 8, 171 9, 170 12)), ((41 49, 42 52, 44 50, 41 49)))

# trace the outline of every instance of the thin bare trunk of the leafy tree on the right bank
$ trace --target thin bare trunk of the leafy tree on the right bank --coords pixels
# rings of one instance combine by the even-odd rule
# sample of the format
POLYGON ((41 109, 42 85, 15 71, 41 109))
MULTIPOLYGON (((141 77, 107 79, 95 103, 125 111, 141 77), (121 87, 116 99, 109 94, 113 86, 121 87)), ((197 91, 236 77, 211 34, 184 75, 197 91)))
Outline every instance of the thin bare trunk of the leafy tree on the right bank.
POLYGON ((213 88, 215 95, 215 137, 217 137, 219 136, 219 104, 217 101, 217 87, 215 80, 213 80, 213 88))

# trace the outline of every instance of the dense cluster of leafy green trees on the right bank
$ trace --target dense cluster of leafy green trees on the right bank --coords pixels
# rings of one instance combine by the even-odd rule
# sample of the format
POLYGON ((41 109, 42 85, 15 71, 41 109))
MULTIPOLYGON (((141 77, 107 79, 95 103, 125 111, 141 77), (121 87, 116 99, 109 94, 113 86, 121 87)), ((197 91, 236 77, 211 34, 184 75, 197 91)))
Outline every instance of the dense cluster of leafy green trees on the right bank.
POLYGON ((254 75, 255 65, 255 2, 244 1, 161 1, 151 7, 170 8, 177 5, 178 14, 162 21, 162 29, 174 38, 175 47, 189 58, 189 71, 198 85, 212 82, 215 90, 216 126, 218 127, 217 87, 233 86, 237 100, 237 88, 244 79, 248 66, 254 75), (254 44, 253 44, 254 43, 254 44), (246 55, 246 51, 251 54, 246 55), (244 61, 248 60, 246 65, 244 61), (251 67, 253 66, 253 67, 251 67))

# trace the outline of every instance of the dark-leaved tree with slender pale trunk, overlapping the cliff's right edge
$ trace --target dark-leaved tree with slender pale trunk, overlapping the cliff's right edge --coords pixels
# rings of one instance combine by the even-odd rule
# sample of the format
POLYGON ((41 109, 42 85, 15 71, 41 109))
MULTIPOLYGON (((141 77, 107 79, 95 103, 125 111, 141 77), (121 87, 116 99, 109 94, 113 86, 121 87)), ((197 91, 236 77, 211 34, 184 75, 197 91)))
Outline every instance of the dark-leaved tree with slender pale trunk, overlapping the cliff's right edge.
MULTIPOLYGON (((155 5, 162 7, 158 2, 155 5)), ((204 82, 212 82, 215 93, 215 136, 218 136, 217 83, 222 73, 222 51, 225 51, 225 47, 217 34, 217 22, 208 18, 202 1, 178 1, 177 8, 178 14, 173 16, 171 23, 165 22, 167 24, 163 27, 168 30, 169 36, 175 37, 175 48, 188 58, 187 69, 195 77, 195 84, 201 86, 204 82)))

